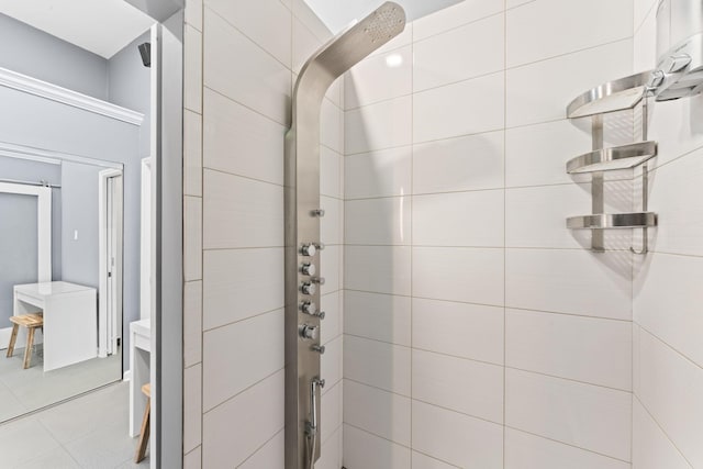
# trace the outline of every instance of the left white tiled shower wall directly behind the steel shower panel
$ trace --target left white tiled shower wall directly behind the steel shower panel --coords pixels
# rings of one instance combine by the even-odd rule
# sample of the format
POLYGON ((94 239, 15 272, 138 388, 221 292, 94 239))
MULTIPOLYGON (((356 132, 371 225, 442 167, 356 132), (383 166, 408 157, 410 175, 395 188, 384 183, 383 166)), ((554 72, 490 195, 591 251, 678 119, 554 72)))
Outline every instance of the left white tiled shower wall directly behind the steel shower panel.
MULTIPOLYGON (((188 377, 200 380, 202 370, 202 384, 192 378, 185 389, 185 464, 277 469, 283 467, 283 138, 295 74, 331 34, 301 0, 204 3, 189 0, 186 14, 185 360, 188 377)), ((338 80, 322 109, 328 247, 320 469, 342 466, 342 91, 338 80)))

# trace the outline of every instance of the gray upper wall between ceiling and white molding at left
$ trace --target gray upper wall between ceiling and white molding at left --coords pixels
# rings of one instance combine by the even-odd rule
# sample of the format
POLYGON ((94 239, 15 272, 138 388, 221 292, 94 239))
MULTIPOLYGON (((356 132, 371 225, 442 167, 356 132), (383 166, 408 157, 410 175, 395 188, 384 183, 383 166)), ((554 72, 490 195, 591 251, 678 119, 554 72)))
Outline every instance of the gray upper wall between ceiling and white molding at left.
POLYGON ((0 67, 108 99, 108 60, 1 13, 0 67))

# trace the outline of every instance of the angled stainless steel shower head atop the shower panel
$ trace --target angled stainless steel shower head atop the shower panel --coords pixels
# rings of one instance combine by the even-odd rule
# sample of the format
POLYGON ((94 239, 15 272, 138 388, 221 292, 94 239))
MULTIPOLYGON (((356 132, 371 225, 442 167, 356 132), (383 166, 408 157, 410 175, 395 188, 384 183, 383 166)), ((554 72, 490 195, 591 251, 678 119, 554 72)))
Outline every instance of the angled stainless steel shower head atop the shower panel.
POLYGON ((403 8, 392 1, 381 4, 368 16, 352 24, 323 45, 303 66, 299 82, 305 75, 323 71, 328 87, 336 78, 402 33, 404 29, 403 8))

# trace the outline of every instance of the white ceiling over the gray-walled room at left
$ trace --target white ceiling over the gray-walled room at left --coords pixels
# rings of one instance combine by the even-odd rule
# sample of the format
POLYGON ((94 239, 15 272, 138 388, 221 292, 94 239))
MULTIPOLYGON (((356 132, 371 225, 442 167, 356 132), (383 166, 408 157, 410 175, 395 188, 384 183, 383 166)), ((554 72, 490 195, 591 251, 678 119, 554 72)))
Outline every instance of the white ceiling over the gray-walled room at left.
POLYGON ((155 22, 124 0, 0 0, 0 13, 104 58, 155 22))

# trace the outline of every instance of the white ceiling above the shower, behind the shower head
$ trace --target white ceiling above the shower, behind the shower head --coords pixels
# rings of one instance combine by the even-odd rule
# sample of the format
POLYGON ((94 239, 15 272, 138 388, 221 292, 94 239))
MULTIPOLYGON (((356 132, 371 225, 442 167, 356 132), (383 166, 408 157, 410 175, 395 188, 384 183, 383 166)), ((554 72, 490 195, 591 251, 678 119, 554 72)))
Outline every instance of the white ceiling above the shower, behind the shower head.
MULTIPOLYGON (((26 0, 25 0, 26 1, 26 0)), ((462 0, 393 0, 405 10, 408 21, 416 20, 462 0)), ((361 20, 382 3, 382 0, 305 0, 320 19, 337 33, 354 20, 361 20)))

